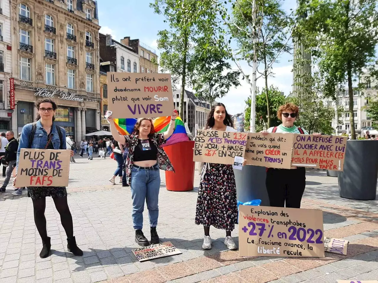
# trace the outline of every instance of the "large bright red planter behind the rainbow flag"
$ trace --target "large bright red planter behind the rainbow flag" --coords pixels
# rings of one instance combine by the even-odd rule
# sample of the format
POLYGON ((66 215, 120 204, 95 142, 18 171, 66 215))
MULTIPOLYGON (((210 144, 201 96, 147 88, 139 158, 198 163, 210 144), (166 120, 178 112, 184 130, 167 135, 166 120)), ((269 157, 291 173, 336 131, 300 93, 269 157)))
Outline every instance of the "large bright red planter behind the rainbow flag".
POLYGON ((194 141, 181 141, 164 147, 175 173, 166 171, 166 187, 168 191, 184 192, 194 188, 193 161, 194 141))

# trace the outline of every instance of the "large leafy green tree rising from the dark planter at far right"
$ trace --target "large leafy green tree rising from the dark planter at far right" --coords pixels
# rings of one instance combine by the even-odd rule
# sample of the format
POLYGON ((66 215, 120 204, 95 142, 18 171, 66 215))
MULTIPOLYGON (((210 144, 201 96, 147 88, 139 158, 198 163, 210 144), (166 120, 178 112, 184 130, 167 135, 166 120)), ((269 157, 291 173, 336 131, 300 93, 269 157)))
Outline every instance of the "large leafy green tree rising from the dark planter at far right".
POLYGON ((378 44, 376 0, 301 0, 296 35, 319 58, 323 94, 335 98, 339 84, 347 82, 350 129, 356 139, 353 115, 353 80, 375 58, 378 44))

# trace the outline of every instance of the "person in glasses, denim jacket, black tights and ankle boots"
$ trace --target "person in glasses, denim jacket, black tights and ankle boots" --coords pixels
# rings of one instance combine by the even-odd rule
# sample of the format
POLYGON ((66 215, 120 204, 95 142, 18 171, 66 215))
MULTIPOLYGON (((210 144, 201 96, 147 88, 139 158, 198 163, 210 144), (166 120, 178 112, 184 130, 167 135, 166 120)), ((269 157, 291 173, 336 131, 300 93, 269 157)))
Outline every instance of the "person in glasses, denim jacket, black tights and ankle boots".
MULTIPOLYGON (((22 128, 19 148, 17 150, 16 174, 22 148, 67 149, 65 142, 66 132, 64 128, 61 128, 54 123, 54 114, 57 108, 55 102, 51 99, 39 100, 36 103, 36 108, 38 111, 37 122, 29 123, 22 128)), ((73 156, 73 151, 71 151, 71 156, 73 156)), ((37 162, 34 163, 37 165, 37 162)), ((16 183, 16 180, 17 175, 13 180, 13 184, 16 183)), ((50 255, 51 241, 50 237, 47 236, 45 217, 46 197, 50 196, 54 200, 55 207, 60 214, 62 226, 67 234, 68 251, 72 252, 74 255, 83 255, 81 249, 77 247, 76 239, 73 235, 73 221, 70 208, 68 208, 66 188, 54 186, 31 186, 28 187, 28 195, 33 200, 34 222, 36 223, 37 230, 43 243, 43 248, 39 256, 45 258, 50 255)))

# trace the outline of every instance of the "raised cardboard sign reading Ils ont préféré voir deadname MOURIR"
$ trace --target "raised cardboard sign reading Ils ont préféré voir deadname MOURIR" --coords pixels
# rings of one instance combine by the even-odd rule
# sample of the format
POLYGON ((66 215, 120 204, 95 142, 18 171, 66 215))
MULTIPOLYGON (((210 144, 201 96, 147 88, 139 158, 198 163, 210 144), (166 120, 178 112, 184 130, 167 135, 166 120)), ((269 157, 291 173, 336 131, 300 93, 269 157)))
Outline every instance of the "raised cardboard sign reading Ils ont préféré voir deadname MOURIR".
POLYGON ((170 74, 108 72, 113 118, 162 117, 174 109, 170 74))

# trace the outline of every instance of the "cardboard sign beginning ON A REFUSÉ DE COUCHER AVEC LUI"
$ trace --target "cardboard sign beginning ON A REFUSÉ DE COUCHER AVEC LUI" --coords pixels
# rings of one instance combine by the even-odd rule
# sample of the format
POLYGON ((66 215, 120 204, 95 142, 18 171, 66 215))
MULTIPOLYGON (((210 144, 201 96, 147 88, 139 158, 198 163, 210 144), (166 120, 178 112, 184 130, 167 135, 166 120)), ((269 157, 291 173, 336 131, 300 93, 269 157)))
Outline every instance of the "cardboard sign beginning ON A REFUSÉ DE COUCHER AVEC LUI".
POLYGON ((291 165, 343 171, 346 144, 347 138, 339 135, 294 134, 291 165))

